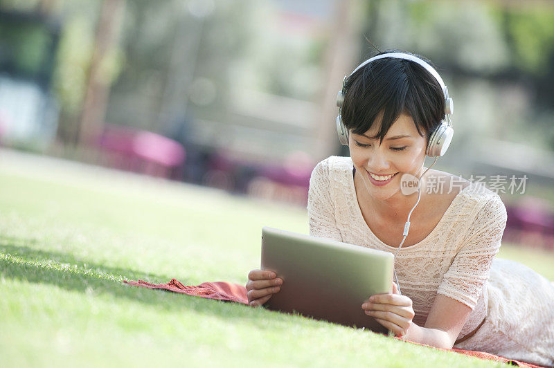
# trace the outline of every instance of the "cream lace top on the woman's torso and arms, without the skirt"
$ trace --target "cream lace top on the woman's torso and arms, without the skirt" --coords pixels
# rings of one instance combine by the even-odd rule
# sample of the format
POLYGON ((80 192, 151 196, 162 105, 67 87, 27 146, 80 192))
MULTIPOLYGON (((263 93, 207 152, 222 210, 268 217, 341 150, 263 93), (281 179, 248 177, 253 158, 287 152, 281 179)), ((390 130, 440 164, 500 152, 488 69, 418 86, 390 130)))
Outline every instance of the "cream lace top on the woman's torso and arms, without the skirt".
MULTIPOLYGON (((331 156, 310 178, 307 212, 310 234, 395 252, 366 224, 356 198, 350 157, 331 156)), ((436 294, 472 309, 458 338, 473 331, 487 314, 486 281, 506 226, 506 208, 497 194, 470 184, 459 192, 437 226, 422 241, 400 249, 395 261, 402 293, 411 298, 424 326, 436 294)), ((402 230, 402 229, 400 229, 402 230)))

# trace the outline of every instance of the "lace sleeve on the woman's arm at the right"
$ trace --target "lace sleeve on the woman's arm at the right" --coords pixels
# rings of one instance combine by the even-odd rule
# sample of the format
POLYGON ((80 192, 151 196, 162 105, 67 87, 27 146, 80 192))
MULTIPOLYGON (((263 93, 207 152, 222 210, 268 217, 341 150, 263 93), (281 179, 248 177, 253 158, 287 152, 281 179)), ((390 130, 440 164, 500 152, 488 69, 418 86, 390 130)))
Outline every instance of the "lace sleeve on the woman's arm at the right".
POLYGON ((506 208, 499 196, 489 199, 472 221, 463 245, 437 293, 475 308, 490 274, 506 227, 506 208))

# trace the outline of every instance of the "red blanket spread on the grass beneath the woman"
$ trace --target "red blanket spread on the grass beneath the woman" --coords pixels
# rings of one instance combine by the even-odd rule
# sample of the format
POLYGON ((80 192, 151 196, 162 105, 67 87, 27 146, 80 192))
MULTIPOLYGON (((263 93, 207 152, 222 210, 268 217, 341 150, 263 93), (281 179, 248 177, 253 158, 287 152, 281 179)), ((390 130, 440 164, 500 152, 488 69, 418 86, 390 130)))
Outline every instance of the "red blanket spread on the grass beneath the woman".
MULTIPOLYGON (((143 280, 139 281, 124 281, 132 286, 143 286, 145 288, 159 288, 167 291, 173 291, 175 293, 183 293, 187 295, 194 295, 198 297, 206 297, 208 299, 225 300, 229 302, 237 302, 242 304, 248 304, 247 289, 239 284, 233 284, 231 282, 204 282, 195 286, 185 286, 178 282, 176 279, 171 279, 167 284, 150 284, 143 280)), ((427 345, 425 345, 427 346, 427 345)), ((436 349, 436 348, 434 348, 436 349)), ((440 349, 445 350, 445 349, 440 349)), ((484 351, 471 351, 452 348, 452 351, 456 353, 462 353, 467 356, 474 356, 476 358, 494 360, 496 362, 515 363, 519 367, 531 367, 541 368, 538 365, 532 365, 526 362, 519 362, 518 360, 511 360, 503 358, 501 356, 495 356, 494 354, 485 353, 484 351)))

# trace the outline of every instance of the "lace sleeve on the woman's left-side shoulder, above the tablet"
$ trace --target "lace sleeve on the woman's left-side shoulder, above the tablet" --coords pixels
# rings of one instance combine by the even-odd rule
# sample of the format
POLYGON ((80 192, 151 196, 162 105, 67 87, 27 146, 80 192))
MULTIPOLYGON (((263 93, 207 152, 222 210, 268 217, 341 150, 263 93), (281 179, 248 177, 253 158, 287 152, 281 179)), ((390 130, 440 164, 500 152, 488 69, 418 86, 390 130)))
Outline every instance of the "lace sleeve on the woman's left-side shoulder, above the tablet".
POLYGON ((342 241, 341 232, 334 218, 334 203, 331 196, 329 163, 318 163, 310 176, 310 190, 307 196, 307 215, 310 235, 342 241))

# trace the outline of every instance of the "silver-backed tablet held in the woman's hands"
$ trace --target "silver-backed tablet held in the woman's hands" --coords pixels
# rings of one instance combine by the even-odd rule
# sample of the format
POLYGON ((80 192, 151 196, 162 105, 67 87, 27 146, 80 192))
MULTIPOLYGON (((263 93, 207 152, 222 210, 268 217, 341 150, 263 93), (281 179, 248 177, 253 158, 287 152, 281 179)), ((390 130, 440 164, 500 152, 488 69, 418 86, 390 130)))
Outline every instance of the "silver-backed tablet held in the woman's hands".
POLYGON ((261 266, 283 279, 268 309, 387 332, 361 304, 392 292, 392 253, 264 226, 261 266))

